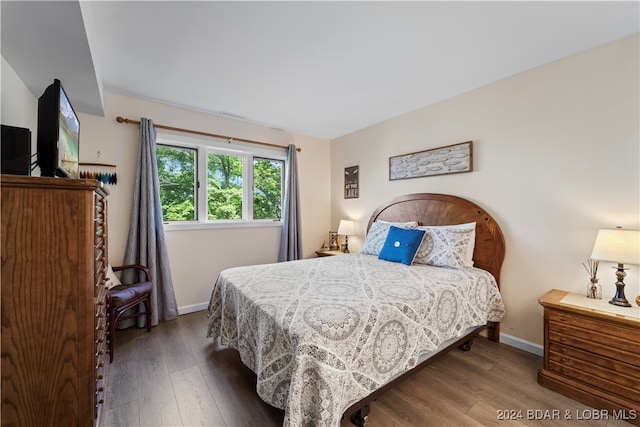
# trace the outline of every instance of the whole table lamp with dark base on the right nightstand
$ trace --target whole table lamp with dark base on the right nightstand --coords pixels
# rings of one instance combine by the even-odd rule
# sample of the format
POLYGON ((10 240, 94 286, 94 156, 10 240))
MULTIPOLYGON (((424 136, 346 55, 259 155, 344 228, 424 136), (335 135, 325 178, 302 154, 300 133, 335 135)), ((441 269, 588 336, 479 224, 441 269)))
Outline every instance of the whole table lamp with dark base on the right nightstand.
MULTIPOLYGON (((609 304, 631 307, 624 295, 624 264, 640 264, 640 230, 602 229, 598 231, 593 245, 592 259, 618 264, 616 294, 609 304)), ((616 267, 613 267, 616 268, 616 267)))

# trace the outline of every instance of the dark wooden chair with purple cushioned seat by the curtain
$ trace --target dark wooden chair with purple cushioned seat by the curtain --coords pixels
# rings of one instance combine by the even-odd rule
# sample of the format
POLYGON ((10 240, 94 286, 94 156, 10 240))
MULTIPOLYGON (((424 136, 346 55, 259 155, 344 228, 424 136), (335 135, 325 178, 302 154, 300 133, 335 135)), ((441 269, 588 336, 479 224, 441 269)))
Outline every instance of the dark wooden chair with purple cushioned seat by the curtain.
POLYGON ((151 281, 151 272, 145 266, 132 264, 113 266, 113 271, 122 271, 129 268, 135 268, 144 272, 146 281, 137 282, 131 285, 118 285, 107 290, 107 316, 109 318, 109 363, 113 362, 114 353, 114 334, 116 324, 121 320, 131 319, 139 316, 147 316, 147 331, 151 330, 151 290, 153 282, 151 281), (138 304, 143 303, 146 312, 135 311, 133 314, 125 315, 125 312, 131 308, 136 309, 138 304))

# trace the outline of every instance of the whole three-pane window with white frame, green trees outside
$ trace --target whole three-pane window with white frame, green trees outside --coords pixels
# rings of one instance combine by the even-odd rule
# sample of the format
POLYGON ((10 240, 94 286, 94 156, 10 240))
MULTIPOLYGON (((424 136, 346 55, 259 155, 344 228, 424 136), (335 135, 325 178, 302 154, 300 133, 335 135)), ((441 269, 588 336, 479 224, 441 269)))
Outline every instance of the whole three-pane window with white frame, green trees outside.
POLYGON ((158 135, 160 200, 176 228, 280 225, 283 151, 158 135))

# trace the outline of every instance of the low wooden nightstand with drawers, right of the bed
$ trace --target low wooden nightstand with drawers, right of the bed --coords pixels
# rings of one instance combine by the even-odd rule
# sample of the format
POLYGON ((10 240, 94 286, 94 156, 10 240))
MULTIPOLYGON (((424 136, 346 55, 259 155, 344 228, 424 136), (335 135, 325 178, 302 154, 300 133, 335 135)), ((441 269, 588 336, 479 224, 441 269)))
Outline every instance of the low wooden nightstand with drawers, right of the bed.
POLYGON ((640 425, 640 308, 552 290, 544 306, 538 382, 609 419, 640 425))

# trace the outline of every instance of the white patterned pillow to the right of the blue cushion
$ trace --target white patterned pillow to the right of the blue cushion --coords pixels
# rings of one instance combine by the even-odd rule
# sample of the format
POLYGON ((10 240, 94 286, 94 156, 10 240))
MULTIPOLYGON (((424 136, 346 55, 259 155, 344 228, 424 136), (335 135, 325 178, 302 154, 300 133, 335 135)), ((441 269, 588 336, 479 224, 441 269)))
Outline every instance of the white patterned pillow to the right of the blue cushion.
POLYGON ((424 239, 414 259, 416 264, 438 267, 473 267, 473 249, 476 244, 476 223, 421 226, 424 239))

